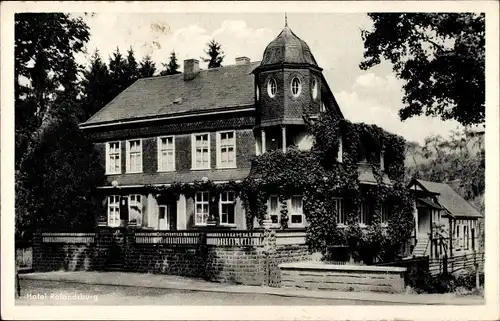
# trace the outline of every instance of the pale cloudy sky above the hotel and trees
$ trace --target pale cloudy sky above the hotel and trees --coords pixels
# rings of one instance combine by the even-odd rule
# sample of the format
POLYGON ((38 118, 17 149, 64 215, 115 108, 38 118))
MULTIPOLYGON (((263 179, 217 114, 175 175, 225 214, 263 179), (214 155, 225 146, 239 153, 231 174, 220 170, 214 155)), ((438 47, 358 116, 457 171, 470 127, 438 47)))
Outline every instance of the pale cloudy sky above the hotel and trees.
MULTIPOLYGON (((215 39, 225 53, 223 65, 234 64, 238 56, 260 61, 265 47, 284 27, 284 13, 96 13, 79 14, 90 27, 87 53, 77 57, 82 64, 98 49, 108 60, 120 48, 132 46, 136 59, 150 55, 161 68, 175 50, 181 65, 184 59, 205 56, 206 43, 215 39)), ((448 137, 457 129, 455 121, 436 117, 413 117, 401 122, 402 82, 388 62, 367 71, 359 68, 363 59, 361 30, 370 29, 364 13, 288 13, 288 25, 304 40, 323 68, 323 74, 340 105, 352 122, 376 124, 407 140, 423 144, 429 135, 448 137)), ((200 67, 206 64, 200 61, 200 67)))

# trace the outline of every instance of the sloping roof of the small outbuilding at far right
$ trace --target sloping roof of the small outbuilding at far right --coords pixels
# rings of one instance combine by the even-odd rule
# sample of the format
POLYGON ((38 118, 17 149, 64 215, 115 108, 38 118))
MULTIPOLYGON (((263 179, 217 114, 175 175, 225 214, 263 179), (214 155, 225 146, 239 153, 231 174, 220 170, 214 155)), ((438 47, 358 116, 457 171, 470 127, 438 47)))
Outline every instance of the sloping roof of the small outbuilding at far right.
POLYGON ((439 204, 456 217, 482 217, 481 213, 463 199, 450 185, 417 179, 426 190, 439 193, 439 204))

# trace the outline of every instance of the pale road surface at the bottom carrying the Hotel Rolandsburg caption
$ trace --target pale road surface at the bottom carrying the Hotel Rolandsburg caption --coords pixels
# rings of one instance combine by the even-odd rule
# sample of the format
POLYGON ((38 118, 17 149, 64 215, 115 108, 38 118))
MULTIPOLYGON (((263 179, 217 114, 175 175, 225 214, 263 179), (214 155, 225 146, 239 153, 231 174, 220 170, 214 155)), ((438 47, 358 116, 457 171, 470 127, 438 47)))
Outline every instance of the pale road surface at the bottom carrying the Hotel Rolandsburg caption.
POLYGON ((16 305, 388 305, 376 301, 210 293, 131 286, 21 280, 16 305))

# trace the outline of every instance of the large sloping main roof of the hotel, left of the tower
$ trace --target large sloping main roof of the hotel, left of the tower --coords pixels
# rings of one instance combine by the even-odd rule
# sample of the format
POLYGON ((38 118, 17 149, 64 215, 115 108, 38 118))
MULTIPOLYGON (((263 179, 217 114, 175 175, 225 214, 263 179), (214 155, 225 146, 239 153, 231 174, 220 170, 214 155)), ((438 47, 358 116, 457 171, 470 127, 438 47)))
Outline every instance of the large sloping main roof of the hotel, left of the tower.
POLYGON ((260 62, 137 80, 83 125, 141 119, 254 104, 254 76, 260 62))

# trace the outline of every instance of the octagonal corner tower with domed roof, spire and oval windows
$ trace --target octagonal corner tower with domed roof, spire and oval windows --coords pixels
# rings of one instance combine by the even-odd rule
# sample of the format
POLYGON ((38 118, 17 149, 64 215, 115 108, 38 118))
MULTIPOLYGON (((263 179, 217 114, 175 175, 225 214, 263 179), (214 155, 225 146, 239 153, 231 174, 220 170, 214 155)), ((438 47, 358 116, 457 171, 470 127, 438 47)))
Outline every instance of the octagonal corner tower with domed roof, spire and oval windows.
POLYGON ((308 149, 305 114, 340 110, 320 68, 305 41, 288 26, 271 41, 254 69, 257 106, 257 153, 295 145, 308 149))

